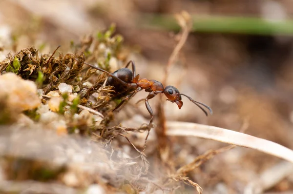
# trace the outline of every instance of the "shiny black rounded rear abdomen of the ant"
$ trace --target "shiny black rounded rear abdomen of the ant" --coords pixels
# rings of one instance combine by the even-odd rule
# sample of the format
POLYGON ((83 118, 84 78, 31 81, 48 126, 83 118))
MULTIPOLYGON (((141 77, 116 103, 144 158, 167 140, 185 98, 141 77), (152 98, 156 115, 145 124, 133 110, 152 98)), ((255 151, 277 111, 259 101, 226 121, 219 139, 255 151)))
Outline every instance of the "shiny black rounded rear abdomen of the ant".
MULTIPOLYGON (((120 78, 121 80, 125 81, 126 83, 131 83, 132 81, 132 71, 128 68, 118 69, 114 73, 113 76, 120 78)), ((123 86, 119 81, 115 80, 114 78, 108 77, 106 81, 106 86, 113 86, 113 90, 115 91, 114 97, 120 98, 126 96, 129 92, 134 91, 135 88, 127 88, 123 86)))

